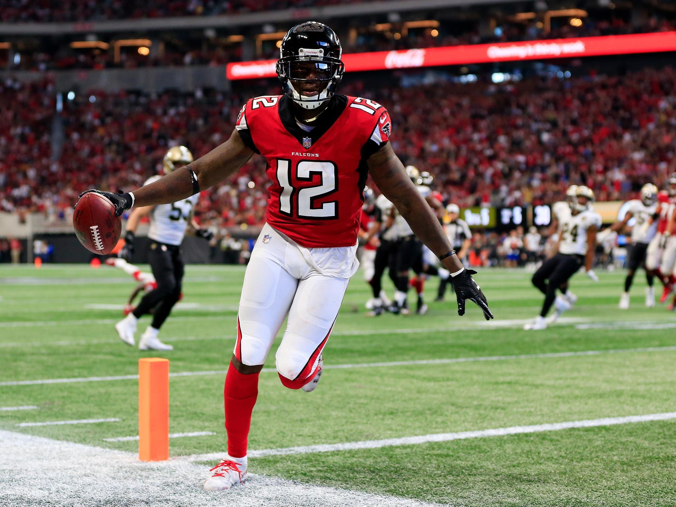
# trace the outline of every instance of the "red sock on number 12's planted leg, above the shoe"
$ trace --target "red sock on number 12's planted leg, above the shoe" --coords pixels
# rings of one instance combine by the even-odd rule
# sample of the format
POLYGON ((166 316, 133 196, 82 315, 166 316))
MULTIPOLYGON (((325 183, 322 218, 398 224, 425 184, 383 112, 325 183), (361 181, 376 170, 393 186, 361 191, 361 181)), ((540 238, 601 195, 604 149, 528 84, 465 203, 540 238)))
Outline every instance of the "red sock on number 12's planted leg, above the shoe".
POLYGON ((231 362, 225 377, 225 429, 228 432, 228 455, 231 458, 247 455, 251 412, 258 397, 258 375, 243 375, 231 362))

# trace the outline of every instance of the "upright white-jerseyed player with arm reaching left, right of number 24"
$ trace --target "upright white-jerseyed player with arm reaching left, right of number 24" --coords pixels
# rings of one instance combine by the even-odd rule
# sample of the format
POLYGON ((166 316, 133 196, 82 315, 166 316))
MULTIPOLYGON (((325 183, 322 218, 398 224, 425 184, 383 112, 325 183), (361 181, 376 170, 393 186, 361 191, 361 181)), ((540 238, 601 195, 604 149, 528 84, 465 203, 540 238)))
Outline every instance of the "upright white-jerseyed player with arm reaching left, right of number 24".
MULTIPOLYGON (((646 252, 650 241, 657 232, 657 222, 652 220, 657 211, 657 187, 652 183, 646 183, 641 189, 641 199, 632 199, 627 202, 627 212, 622 220, 615 222, 605 231, 600 233, 598 240, 604 241, 604 238, 613 231, 622 231, 629 224, 629 220, 634 219, 631 228, 631 246, 629 247, 629 258, 627 259, 627 278, 625 279, 625 291, 620 297, 620 310, 629 309, 629 289, 633 282, 634 274, 639 267, 646 270, 646 252)), ((646 306, 655 306, 655 287, 653 285, 655 276, 646 270, 646 306)))

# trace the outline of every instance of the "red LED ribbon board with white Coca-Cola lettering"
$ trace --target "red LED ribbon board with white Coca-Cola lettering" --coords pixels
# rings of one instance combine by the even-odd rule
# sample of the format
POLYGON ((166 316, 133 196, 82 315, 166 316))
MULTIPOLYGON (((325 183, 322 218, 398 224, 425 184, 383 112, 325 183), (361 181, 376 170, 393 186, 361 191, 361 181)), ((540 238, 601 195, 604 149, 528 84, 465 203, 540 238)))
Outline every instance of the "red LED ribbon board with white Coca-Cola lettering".
MULTIPOLYGON (((347 72, 360 72, 661 51, 676 51, 676 32, 347 53, 343 55, 343 62, 347 72)), ((272 78, 277 75, 275 62, 276 60, 256 60, 228 64, 226 75, 231 80, 272 78)))

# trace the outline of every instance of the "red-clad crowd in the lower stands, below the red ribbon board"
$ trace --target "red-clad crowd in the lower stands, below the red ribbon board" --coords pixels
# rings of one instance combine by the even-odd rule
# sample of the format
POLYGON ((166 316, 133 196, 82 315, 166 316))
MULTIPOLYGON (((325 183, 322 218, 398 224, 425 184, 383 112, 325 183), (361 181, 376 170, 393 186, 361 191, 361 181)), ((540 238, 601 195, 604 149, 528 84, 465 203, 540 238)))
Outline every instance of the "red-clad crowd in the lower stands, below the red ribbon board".
MULTIPOLYGON (((341 91, 382 101, 402 161, 434 174, 446 202, 468 207, 552 203, 571 183, 599 200, 633 198, 647 181, 662 185, 676 170, 675 85, 676 71, 665 68, 374 90, 356 81, 341 91)), ((64 140, 52 160, 53 84, 3 82, 0 209, 67 218, 84 189, 141 185, 170 145, 207 153, 230 135, 243 101, 266 93, 276 84, 258 93, 78 95, 64 101, 64 140)), ((252 158, 204 192, 197 211, 223 225, 262 222, 265 169, 252 158)))

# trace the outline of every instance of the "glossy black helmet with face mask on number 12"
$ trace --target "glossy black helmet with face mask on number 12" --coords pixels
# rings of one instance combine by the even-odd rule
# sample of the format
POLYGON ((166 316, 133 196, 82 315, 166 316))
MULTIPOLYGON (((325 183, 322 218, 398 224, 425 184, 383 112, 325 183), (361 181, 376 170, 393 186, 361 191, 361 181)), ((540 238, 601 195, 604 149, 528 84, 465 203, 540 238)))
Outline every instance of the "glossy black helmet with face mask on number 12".
POLYGON ((331 99, 345 72, 342 52, 337 35, 323 23, 308 21, 291 28, 282 39, 276 66, 284 95, 310 110, 331 99), (312 78, 308 78, 308 62, 314 64, 312 78), (295 88, 303 81, 319 81, 318 93, 303 95, 295 88))

